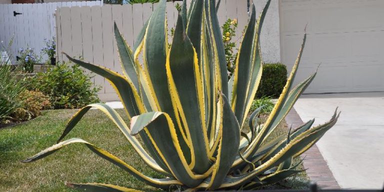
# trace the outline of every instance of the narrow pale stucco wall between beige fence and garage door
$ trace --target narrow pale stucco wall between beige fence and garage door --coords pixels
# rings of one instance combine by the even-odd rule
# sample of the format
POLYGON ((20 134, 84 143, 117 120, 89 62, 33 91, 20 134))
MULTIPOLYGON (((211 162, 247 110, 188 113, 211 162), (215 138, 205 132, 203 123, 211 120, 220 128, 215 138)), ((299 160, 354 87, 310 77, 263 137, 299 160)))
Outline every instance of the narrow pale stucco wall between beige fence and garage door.
MULTIPOLYGON (((261 12, 266 0, 253 0, 256 12, 261 12)), ((259 14, 256 14, 259 15, 259 14)), ((280 62, 280 20, 278 0, 272 0, 266 13, 260 35, 261 54, 264 62, 280 62)))

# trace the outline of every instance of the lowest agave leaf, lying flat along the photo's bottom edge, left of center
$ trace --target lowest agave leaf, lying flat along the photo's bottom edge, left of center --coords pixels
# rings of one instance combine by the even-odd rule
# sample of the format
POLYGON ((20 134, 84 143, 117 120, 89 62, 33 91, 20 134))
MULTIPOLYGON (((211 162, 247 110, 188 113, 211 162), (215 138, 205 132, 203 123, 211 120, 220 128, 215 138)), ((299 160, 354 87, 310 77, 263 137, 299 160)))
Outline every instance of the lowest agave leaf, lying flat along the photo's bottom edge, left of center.
POLYGON ((79 191, 87 192, 141 192, 140 190, 126 188, 122 186, 112 184, 101 184, 101 183, 70 183, 65 182, 65 185, 69 188, 73 188, 79 191))

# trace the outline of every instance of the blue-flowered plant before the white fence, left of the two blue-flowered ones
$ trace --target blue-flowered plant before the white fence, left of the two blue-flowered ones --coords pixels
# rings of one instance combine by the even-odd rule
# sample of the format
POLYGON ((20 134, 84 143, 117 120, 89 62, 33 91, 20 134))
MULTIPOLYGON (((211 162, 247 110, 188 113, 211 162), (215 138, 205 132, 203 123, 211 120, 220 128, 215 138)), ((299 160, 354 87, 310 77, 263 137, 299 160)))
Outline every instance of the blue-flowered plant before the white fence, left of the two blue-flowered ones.
POLYGON ((38 56, 32 48, 20 48, 18 65, 22 66, 22 70, 26 72, 33 72, 33 64, 41 61, 41 57, 38 56))

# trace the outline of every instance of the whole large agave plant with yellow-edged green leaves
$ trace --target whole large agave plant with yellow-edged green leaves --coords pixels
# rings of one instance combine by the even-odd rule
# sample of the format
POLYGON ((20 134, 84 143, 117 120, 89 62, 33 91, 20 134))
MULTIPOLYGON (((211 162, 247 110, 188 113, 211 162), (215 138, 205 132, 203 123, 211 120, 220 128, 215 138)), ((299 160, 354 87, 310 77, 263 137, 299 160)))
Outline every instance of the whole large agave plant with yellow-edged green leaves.
MULTIPOLYGON (((83 143, 148 185, 164 189, 178 186, 179 190, 252 189, 302 171, 296 170, 297 164, 292 158, 311 147, 335 124, 339 115, 336 111, 324 124, 311 127, 313 120, 310 120, 287 136, 263 141, 268 140, 315 76, 314 72, 292 86, 305 34, 286 85, 269 117, 257 125, 260 108, 255 110, 250 115, 250 130, 245 133, 241 127, 261 77, 259 35, 270 0, 258 19, 253 5, 234 75, 229 81, 215 0, 192 0, 188 11, 184 0, 170 48, 165 2, 160 0, 137 37, 133 51, 114 26, 122 75, 67 55, 71 61, 109 80, 124 105, 130 126, 109 106, 90 104, 69 120, 57 144, 24 162, 40 159, 71 143, 83 143), (144 175, 128 162, 80 138, 61 141, 91 107, 103 111, 144 162, 163 177, 144 175)), ((101 183, 66 184, 86 191, 132 191, 101 183)))

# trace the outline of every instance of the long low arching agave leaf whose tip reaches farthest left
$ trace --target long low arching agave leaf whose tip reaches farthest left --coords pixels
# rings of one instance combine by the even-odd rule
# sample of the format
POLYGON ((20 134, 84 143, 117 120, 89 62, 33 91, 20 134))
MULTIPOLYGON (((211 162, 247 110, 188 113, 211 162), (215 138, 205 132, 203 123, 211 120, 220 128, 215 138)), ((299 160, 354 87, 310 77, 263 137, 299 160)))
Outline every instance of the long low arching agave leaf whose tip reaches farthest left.
POLYGON ((111 153, 107 152, 106 150, 99 148, 99 147, 97 147, 97 146, 95 146, 95 145, 93 145, 93 144, 91 144, 91 143, 89 143, 83 139, 80 139, 80 138, 71 138, 71 139, 59 142, 57 144, 54 144, 53 146, 48 147, 48 148, 40 151, 39 153, 35 154, 34 156, 29 157, 29 158, 27 158, 21 162, 32 162, 32 161, 41 159, 41 158, 48 156, 48 155, 56 152, 57 150, 61 149, 62 147, 66 146, 68 144, 71 144, 71 143, 85 144, 92 152, 101 156, 105 160, 108 160, 109 162, 119 166, 120 168, 126 170, 127 172, 132 174, 134 177, 145 182, 148 185, 151 185, 154 187, 159 187, 159 188, 168 188, 170 185, 173 185, 173 184, 181 184, 180 181, 172 179, 172 178, 158 179, 158 178, 148 177, 148 176, 142 174, 141 172, 137 171, 135 168, 133 168, 129 164, 125 163, 121 159, 119 159, 116 156, 112 155, 111 153))

